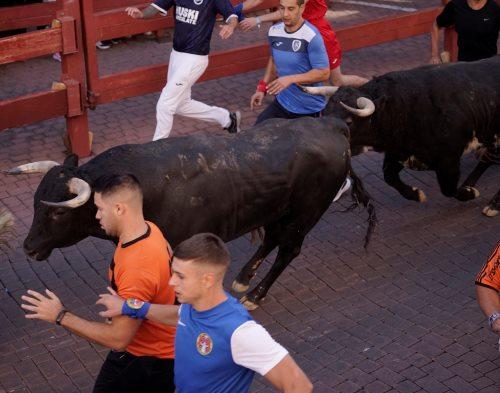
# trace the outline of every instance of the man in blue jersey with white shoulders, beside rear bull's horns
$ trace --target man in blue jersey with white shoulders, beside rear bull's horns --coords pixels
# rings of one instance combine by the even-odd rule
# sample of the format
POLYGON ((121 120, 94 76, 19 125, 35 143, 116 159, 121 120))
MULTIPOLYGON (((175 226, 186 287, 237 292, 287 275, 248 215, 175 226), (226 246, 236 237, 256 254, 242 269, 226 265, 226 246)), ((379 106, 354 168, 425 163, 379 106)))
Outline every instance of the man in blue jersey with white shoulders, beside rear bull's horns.
POLYGON ((307 94, 297 86, 321 86, 330 75, 321 34, 302 18, 304 5, 304 0, 280 0, 283 22, 269 29, 271 58, 250 106, 262 105, 266 93, 276 95, 276 99, 261 112, 256 124, 276 117, 317 117, 326 105, 324 97, 307 94))

